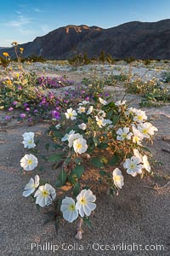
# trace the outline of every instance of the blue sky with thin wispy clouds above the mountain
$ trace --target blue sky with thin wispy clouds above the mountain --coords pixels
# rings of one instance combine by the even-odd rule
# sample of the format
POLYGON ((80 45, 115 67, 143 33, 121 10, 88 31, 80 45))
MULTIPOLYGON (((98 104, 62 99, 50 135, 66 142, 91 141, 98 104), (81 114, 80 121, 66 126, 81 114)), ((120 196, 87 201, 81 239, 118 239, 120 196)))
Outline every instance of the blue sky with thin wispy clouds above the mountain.
POLYGON ((69 24, 108 28, 122 23, 170 18, 170 0, 4 0, 0 46, 32 41, 69 24))

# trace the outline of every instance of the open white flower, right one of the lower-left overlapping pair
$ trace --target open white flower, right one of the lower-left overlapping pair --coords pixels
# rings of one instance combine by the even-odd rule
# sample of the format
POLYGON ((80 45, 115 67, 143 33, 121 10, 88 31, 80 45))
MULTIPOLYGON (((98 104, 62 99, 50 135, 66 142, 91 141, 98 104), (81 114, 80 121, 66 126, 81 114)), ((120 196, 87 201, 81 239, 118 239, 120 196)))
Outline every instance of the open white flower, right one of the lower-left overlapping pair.
POLYGON ((48 183, 46 183, 44 186, 40 186, 34 197, 36 198, 36 204, 40 207, 48 206, 54 201, 56 196, 55 189, 48 183))

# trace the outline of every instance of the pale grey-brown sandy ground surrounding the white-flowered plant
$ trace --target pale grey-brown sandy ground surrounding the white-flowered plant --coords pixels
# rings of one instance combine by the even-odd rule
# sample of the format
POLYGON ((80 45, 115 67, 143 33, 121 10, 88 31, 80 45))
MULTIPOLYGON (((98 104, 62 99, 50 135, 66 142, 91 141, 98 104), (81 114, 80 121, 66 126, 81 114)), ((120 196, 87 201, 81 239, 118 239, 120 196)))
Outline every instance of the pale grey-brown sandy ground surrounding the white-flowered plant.
MULTIPOLYGON (((59 69, 47 67, 42 64, 34 64, 33 70, 46 75, 65 75, 69 79, 81 81, 84 75, 90 73, 94 67, 71 67, 65 66, 59 69), (39 66, 38 66, 39 65, 39 66), (41 66, 41 67, 40 67, 41 66)), ((97 73, 102 75, 104 67, 97 67, 97 73)), ((147 78, 160 77, 162 70, 166 67, 132 67, 134 76, 145 76, 147 78), (147 75, 147 76, 146 76, 147 75)), ((105 73, 120 73, 124 70, 129 72, 129 67, 105 66, 105 73)), ((106 87, 114 97, 114 88, 106 87)), ((116 88, 116 98, 121 98, 123 89, 116 88)), ((127 95, 130 106, 139 108, 139 96, 127 95)), ((144 108, 152 123, 158 128, 158 132, 150 149, 157 161, 163 165, 155 165, 157 174, 170 175, 170 105, 161 108, 144 108), (163 150, 167 149, 167 151, 163 150), (169 150, 169 152, 168 152, 169 150)), ((1 111, 0 131, 0 191, 1 191, 1 255, 4 256, 29 256, 29 255, 128 255, 128 256, 168 256, 170 254, 169 233, 169 208, 170 187, 167 185, 162 189, 151 189, 153 185, 163 187, 167 182, 164 179, 150 177, 126 177, 126 183, 114 199, 107 196, 105 191, 96 191, 97 209, 93 216, 93 230, 85 229, 82 241, 74 238, 75 224, 60 224, 59 232, 56 234, 53 223, 44 225, 46 210, 37 211, 35 204, 31 204, 22 197, 22 191, 31 177, 30 174, 20 173, 20 158, 23 154, 21 136, 25 131, 34 131, 40 138, 40 145, 47 143, 49 137, 43 132, 48 129, 48 124, 41 123, 31 127, 18 124, 15 120, 3 124, 4 111, 1 111), (147 187, 148 186, 148 187, 147 187), (47 243, 47 244, 46 244, 47 243), (33 249, 31 250, 31 245, 33 249), (39 245, 39 246, 38 246, 39 245), (45 246, 50 246, 49 250, 45 246), (113 246, 123 245, 117 251, 113 246), (125 247, 128 246, 128 250, 125 247), (138 246, 135 247, 134 245, 138 246), (139 245, 142 247, 139 248, 139 245), (145 250, 145 245, 152 245, 152 249, 145 250), (156 251, 156 245, 162 245, 161 251, 156 251), (44 246, 44 247, 43 247, 44 246), (55 246, 55 247, 54 247, 55 246), (131 248, 134 246, 134 250, 131 248), (52 249, 50 249, 52 248, 52 249), (53 248, 56 249, 53 252, 53 248), (155 248, 153 250, 153 248, 155 248), (42 250, 41 250, 42 249, 42 250)), ((56 170, 46 166, 46 172, 42 177, 56 177, 56 170)))

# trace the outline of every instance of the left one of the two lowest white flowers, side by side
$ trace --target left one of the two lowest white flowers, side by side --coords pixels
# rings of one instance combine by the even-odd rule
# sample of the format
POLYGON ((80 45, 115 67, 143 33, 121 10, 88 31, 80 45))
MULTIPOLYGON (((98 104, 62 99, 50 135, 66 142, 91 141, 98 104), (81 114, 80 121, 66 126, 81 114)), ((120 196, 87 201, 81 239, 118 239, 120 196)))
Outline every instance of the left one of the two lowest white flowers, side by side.
POLYGON ((78 217, 75 201, 71 197, 66 196, 65 199, 62 200, 60 210, 63 212, 63 218, 70 223, 78 217))

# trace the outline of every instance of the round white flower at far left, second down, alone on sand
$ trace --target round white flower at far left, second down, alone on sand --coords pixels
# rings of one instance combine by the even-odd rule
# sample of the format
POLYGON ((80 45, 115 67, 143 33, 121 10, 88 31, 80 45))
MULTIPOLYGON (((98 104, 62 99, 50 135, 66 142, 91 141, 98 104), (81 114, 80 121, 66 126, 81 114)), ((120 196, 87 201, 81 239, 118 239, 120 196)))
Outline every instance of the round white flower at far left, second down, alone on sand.
POLYGON ((32 171, 37 167, 37 157, 33 154, 25 154, 25 156, 20 160, 20 166, 25 171, 32 171))

